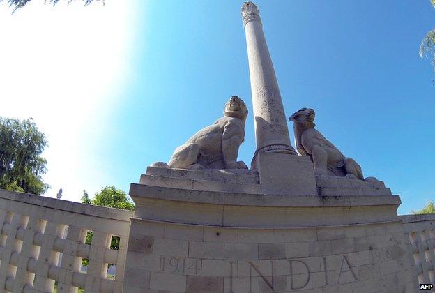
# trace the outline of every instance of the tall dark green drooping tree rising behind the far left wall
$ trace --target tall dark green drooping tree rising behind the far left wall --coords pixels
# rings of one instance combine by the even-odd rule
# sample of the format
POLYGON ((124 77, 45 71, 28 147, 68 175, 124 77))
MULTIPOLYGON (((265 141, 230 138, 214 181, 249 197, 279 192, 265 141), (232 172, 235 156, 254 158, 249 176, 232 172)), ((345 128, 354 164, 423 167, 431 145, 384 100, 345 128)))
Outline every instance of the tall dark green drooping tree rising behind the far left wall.
POLYGON ((33 119, 0 117, 0 188, 45 193, 49 186, 42 175, 47 170, 47 160, 40 154, 46 146, 46 137, 33 119))

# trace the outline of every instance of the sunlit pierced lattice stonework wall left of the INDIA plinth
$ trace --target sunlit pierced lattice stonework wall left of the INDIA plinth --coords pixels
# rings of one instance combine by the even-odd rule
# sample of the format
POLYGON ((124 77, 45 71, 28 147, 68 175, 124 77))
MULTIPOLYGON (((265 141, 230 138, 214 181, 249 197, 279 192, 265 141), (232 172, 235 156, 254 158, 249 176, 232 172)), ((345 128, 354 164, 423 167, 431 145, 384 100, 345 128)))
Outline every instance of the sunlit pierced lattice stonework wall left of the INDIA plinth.
POLYGON ((0 190, 0 292, 122 292, 132 212, 0 190), (91 245, 86 233, 91 231, 91 245), (110 248, 112 236, 119 250, 110 248), (89 260, 86 271, 82 259, 89 260), (116 273, 107 276, 108 265, 116 273))

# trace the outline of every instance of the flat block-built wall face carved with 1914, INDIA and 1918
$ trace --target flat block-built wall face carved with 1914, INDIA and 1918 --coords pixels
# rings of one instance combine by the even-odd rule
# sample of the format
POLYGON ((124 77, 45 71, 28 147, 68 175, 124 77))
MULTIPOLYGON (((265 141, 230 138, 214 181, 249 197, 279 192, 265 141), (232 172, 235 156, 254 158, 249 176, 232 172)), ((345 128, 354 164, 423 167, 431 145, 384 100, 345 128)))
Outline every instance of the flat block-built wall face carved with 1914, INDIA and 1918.
POLYGON ((415 292, 399 222, 257 230, 137 220, 135 227, 155 244, 148 254, 129 253, 127 262, 148 273, 126 276, 128 292, 415 292), (128 286, 148 275, 141 287, 128 286))

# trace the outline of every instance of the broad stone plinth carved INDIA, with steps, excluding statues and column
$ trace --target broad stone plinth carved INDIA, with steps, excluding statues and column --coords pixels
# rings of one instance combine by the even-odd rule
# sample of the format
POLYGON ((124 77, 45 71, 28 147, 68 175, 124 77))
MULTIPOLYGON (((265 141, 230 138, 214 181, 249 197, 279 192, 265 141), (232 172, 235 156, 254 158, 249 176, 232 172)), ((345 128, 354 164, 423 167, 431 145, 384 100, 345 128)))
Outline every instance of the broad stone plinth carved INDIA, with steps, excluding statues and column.
POLYGON ((252 171, 226 172, 152 168, 131 185, 124 292, 414 292, 383 182, 322 176, 319 194, 268 194, 252 171))

